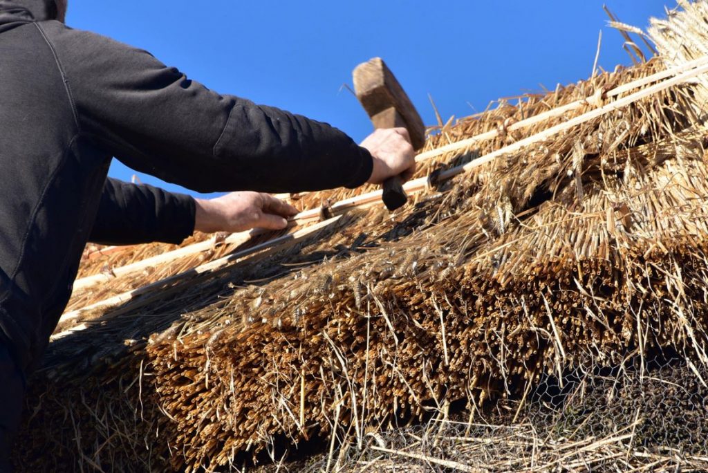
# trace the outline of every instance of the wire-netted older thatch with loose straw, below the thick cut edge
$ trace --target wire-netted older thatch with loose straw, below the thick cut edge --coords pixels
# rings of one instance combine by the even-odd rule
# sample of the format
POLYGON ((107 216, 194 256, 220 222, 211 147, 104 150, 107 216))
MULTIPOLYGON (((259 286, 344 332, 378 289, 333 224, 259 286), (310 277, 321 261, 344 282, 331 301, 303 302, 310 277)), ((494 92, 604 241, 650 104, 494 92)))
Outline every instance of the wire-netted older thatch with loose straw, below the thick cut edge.
POLYGON ((372 431, 363 447, 343 435, 343 448, 297 469, 706 471, 707 376, 706 367, 675 353, 578 368, 561 378, 545 376, 522 399, 501 401, 491 411, 453 408, 427 423, 372 431))

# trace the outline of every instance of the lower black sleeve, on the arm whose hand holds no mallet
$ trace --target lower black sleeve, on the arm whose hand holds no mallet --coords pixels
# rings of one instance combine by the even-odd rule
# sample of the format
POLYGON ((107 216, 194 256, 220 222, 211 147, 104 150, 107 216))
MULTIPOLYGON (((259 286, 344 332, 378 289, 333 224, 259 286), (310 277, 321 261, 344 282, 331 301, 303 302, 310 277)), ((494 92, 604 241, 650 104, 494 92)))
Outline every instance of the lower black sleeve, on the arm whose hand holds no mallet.
POLYGON ((147 185, 105 181, 89 241, 179 244, 194 232, 194 199, 147 185))

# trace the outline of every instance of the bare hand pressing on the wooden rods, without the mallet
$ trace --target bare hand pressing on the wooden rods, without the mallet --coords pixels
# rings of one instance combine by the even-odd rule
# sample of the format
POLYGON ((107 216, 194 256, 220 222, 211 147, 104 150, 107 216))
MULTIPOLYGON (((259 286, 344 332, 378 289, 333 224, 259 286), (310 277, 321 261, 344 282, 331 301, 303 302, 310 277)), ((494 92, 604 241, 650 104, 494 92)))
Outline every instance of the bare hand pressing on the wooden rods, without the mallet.
POLYGON ((287 227, 287 217, 297 214, 292 205, 260 192, 232 192, 195 203, 194 229, 205 233, 281 230, 287 227))

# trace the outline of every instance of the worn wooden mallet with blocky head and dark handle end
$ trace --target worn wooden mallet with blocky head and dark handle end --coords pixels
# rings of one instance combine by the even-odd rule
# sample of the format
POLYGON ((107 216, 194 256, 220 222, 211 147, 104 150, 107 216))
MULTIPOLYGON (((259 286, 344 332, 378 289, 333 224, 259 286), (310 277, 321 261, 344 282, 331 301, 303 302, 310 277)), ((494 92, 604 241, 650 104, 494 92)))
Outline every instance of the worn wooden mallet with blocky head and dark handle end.
MULTIPOLYGON (((354 91, 375 128, 405 127, 416 151, 426 142, 426 127, 399 81, 380 57, 354 69, 354 91)), ((382 198, 393 211, 408 201, 400 176, 384 182, 382 198)))

